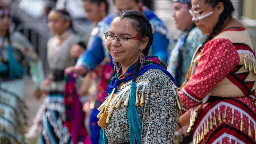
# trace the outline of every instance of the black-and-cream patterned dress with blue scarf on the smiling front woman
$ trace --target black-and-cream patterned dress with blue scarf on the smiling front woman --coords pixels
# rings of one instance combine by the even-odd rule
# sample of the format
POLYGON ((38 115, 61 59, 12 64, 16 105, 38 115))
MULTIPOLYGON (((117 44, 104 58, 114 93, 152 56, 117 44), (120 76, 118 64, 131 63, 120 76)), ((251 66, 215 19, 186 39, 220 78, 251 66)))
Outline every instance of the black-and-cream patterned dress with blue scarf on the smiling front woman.
POLYGON ((146 58, 136 84, 131 80, 136 63, 112 78, 108 92, 115 89, 98 108, 100 126, 102 113, 107 114, 107 127, 102 130, 101 143, 172 143, 178 120, 177 87, 166 66, 154 67, 156 61, 160 60, 146 58))

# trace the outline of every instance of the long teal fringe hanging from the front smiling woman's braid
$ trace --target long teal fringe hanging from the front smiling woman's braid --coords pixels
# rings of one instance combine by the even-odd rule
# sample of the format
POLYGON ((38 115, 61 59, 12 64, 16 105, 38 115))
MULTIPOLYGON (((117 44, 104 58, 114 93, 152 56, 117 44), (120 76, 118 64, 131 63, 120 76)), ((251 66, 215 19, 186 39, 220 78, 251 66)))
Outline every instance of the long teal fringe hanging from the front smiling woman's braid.
POLYGON ((130 99, 128 105, 128 122, 130 129, 130 144, 141 144, 141 122, 138 114, 138 110, 135 106, 136 99, 136 83, 131 83, 130 99), (136 136, 136 137, 134 137, 136 136))

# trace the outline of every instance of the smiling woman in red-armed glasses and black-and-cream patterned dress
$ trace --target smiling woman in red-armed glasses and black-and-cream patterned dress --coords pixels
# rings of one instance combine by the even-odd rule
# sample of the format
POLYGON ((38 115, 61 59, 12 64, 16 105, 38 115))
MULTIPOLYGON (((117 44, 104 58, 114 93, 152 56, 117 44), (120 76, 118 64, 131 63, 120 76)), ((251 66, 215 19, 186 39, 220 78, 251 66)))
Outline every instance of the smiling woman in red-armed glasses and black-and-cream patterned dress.
POLYGON ((105 34, 116 75, 98 108, 101 144, 172 143, 181 104, 175 80, 148 56, 152 27, 139 11, 119 12, 105 34))

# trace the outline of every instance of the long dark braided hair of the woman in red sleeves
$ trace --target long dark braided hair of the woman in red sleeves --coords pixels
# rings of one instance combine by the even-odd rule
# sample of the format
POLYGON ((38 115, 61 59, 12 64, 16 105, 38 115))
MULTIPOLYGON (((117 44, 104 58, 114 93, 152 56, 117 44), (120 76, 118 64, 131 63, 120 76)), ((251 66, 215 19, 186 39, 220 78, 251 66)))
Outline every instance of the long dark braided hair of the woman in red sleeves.
POLYGON ((216 26, 213 28, 210 35, 206 38, 206 40, 203 42, 200 49, 203 49, 204 45, 209 42, 218 32, 222 30, 222 27, 224 25, 225 20, 228 17, 232 17, 232 12, 235 10, 233 7, 233 4, 230 0, 204 0, 206 4, 214 4, 212 8, 214 8, 219 2, 222 2, 224 5, 224 10, 221 13, 219 20, 216 24, 216 26))

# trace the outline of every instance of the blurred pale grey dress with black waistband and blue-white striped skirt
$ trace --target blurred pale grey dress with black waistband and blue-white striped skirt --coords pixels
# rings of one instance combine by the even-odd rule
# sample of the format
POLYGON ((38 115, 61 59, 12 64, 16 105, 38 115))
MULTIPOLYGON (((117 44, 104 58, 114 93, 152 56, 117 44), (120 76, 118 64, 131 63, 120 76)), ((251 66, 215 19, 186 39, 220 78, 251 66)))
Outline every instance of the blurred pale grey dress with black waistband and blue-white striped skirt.
POLYGON ((43 113, 42 134, 39 143, 67 144, 71 143, 71 134, 64 126, 65 107, 63 91, 65 87, 64 70, 75 65, 75 59, 70 56, 70 48, 79 41, 79 37, 71 31, 66 31, 61 37, 66 40, 57 45, 56 36, 49 39, 47 44, 47 59, 50 67, 50 75, 53 79, 48 87, 48 95, 45 98, 45 110, 43 113))

